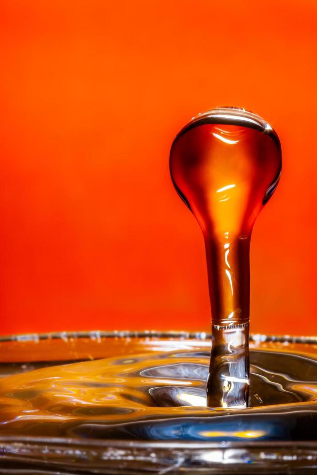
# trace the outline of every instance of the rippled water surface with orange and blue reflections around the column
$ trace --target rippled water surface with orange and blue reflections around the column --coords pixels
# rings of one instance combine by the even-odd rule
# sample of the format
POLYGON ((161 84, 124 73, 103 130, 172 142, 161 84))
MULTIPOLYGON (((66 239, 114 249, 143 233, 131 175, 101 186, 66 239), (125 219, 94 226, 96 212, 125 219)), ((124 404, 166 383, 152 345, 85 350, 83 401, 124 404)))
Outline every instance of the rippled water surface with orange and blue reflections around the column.
POLYGON ((206 408, 205 348, 44 367, 0 380, 0 436, 316 439, 317 360, 253 349, 248 409, 206 408))

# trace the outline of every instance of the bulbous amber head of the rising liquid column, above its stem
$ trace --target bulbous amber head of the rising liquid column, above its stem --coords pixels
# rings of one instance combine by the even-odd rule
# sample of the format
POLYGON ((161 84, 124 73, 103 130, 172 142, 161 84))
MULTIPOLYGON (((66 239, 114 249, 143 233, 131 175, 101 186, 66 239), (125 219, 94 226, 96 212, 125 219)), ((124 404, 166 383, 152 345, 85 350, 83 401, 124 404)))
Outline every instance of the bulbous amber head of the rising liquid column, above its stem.
POLYGON ((172 180, 203 232, 248 235, 282 168, 273 128, 242 108, 198 114, 174 139, 172 180))

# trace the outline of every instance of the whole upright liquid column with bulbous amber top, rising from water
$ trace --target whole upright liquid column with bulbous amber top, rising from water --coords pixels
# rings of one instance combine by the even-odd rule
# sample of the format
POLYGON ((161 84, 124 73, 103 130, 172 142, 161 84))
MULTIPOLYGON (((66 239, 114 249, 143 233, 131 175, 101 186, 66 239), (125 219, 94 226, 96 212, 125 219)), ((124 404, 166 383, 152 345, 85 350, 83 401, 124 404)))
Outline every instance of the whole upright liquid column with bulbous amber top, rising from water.
POLYGON ((206 245, 212 314, 208 405, 246 407, 250 240, 254 221, 279 180, 279 139, 256 114, 214 109, 176 136, 170 170, 206 245))

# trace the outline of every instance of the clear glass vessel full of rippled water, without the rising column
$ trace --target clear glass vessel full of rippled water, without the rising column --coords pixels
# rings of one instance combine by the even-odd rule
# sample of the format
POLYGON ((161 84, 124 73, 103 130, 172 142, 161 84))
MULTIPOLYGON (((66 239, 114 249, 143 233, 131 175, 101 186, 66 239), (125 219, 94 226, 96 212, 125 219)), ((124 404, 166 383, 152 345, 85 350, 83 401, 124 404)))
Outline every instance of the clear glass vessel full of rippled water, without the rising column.
POLYGON ((214 456, 226 474, 249 473, 254 458, 251 473, 316 466, 316 345, 251 342, 250 407, 240 410, 206 407, 209 336, 63 336, 0 343, 0 355, 16 362, 0 364, 1 473, 211 473, 214 456), (39 352, 107 358, 38 362, 39 352))

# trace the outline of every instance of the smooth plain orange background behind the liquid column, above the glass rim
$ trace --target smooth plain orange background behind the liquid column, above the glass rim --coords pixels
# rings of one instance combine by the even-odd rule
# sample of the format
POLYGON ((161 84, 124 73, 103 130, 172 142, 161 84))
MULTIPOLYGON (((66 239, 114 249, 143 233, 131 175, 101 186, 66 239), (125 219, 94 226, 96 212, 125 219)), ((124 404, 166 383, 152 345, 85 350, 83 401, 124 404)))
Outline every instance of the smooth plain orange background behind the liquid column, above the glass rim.
POLYGON ((0 333, 208 330, 168 156, 191 116, 237 105, 284 158, 251 329, 317 334, 316 17, 314 0, 1 1, 0 333))

